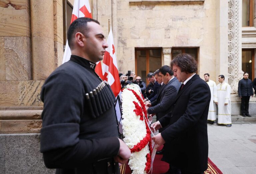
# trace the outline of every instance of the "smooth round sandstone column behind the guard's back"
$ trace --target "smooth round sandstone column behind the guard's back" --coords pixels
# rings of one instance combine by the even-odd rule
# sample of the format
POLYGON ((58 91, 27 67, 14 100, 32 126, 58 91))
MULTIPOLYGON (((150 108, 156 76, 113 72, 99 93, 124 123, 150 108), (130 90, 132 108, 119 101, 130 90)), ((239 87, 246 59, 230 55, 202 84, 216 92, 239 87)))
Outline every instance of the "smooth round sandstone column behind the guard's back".
POLYGON ((31 0, 32 79, 45 80, 54 70, 53 0, 31 0))

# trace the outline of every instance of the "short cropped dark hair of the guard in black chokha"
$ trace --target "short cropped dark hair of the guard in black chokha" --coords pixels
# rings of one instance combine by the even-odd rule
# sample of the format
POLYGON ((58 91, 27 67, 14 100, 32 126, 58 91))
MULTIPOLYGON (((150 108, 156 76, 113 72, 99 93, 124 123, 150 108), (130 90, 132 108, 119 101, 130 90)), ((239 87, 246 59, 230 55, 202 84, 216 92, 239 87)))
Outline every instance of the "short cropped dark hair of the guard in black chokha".
POLYGON ((91 18, 82 17, 82 18, 77 18, 75 21, 73 21, 70 24, 68 33, 67 33, 68 45, 70 49, 72 49, 74 46, 72 39, 75 37, 75 34, 77 32, 80 32, 83 35, 85 35, 85 37, 87 37, 87 33, 88 33, 87 22, 95 22, 100 25, 100 23, 97 20, 91 19, 91 18))

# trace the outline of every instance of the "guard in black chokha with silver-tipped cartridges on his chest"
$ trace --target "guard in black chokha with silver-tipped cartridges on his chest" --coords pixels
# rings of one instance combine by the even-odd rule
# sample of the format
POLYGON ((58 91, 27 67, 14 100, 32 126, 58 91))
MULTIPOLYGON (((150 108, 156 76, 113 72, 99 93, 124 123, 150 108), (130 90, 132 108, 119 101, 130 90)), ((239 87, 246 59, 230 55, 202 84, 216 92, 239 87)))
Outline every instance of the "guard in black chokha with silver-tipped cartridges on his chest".
POLYGON ((108 47, 98 21, 78 18, 69 27, 70 61, 45 81, 41 152, 58 174, 119 174, 130 149, 118 138, 114 95, 94 69, 108 47))

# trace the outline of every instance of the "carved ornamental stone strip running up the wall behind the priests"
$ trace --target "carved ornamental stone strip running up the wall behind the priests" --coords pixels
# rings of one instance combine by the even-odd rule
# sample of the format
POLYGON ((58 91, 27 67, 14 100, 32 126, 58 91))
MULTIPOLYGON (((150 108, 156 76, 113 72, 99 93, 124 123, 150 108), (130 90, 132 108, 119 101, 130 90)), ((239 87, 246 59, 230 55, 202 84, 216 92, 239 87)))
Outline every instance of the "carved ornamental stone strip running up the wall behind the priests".
POLYGON ((242 1, 228 1, 228 83, 237 93, 242 72, 242 1))

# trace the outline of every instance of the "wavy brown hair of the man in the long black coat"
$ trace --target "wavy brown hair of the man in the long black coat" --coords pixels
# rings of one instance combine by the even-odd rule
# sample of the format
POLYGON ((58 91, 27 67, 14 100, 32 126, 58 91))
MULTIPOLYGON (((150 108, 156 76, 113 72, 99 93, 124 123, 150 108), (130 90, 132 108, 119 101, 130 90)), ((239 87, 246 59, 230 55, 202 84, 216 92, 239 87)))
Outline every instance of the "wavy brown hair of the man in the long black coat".
POLYGON ((178 66, 181 72, 195 73, 197 71, 196 60, 186 53, 178 54, 171 62, 171 69, 173 65, 178 66))

